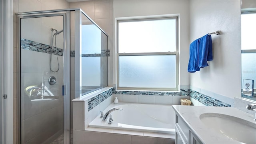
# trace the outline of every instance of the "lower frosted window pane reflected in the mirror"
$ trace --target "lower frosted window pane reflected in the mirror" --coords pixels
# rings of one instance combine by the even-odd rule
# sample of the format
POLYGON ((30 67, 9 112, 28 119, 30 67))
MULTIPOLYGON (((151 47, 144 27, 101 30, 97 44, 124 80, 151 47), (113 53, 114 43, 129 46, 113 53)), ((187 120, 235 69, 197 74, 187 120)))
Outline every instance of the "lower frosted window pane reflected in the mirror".
POLYGON ((254 87, 256 86, 256 53, 242 53, 241 54, 241 69, 242 81, 243 79, 254 80, 254 87))

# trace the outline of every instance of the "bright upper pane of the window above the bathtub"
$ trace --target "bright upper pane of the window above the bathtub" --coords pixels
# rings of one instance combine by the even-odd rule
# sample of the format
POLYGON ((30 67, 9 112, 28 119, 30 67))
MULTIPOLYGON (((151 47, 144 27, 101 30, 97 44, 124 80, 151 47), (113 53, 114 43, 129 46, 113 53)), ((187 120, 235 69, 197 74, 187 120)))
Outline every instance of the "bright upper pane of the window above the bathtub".
POLYGON ((118 53, 176 52, 176 19, 118 22, 118 53))

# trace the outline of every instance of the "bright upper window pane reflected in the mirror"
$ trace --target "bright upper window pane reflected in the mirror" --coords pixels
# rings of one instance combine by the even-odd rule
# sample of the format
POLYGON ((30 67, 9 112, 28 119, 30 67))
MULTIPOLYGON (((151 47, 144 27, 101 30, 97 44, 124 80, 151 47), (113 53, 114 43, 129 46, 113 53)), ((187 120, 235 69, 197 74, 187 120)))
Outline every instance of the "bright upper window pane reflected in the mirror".
POLYGON ((241 14, 241 49, 256 49, 256 14, 241 14))

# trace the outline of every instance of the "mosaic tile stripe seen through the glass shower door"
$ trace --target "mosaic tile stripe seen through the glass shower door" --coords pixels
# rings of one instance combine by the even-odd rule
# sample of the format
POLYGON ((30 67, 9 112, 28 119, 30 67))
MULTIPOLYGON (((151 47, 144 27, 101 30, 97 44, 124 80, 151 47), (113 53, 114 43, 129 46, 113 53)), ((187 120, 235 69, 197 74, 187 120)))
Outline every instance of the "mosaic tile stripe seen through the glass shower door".
MULTIPOLYGON (((42 44, 39 42, 34 42, 31 40, 26 40, 24 38, 21 38, 20 45, 21 45, 21 48, 24 50, 32 50, 35 52, 43 52, 46 54, 51 54, 51 52, 52 52, 52 54, 56 55, 55 47, 52 50, 52 47, 47 44, 42 44)), ((58 56, 63 56, 63 49, 57 48, 57 51, 58 51, 58 56)))

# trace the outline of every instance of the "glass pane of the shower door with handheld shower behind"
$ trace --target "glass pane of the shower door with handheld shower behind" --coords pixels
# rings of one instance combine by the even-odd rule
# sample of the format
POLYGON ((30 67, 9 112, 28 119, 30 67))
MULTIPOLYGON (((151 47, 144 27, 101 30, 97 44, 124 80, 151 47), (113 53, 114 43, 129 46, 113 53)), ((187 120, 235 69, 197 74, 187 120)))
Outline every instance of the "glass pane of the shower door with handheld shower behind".
POLYGON ((63 16, 20 19, 22 144, 64 142, 63 22, 63 16))

